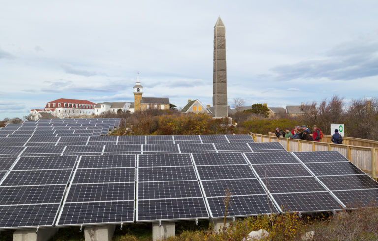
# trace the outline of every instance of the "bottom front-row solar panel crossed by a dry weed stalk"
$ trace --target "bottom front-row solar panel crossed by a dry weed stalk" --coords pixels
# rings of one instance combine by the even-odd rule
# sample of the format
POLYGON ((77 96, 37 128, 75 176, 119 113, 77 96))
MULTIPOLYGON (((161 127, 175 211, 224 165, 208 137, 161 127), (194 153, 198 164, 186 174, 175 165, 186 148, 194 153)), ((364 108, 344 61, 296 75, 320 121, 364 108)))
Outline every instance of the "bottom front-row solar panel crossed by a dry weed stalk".
MULTIPOLYGON (((206 198, 211 212, 211 217, 224 217, 225 204, 223 197, 206 198)), ((228 206, 229 217, 256 216, 270 213, 278 213, 273 204, 269 206, 267 195, 232 196, 228 206)))

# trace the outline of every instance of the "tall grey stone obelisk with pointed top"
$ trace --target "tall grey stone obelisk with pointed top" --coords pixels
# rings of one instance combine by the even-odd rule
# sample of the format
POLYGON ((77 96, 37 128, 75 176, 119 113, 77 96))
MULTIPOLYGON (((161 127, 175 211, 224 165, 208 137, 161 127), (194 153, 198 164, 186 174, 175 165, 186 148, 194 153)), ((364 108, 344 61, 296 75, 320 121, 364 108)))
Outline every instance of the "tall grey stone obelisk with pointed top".
POLYGON ((214 26, 213 107, 214 117, 228 116, 226 28, 221 17, 214 26))

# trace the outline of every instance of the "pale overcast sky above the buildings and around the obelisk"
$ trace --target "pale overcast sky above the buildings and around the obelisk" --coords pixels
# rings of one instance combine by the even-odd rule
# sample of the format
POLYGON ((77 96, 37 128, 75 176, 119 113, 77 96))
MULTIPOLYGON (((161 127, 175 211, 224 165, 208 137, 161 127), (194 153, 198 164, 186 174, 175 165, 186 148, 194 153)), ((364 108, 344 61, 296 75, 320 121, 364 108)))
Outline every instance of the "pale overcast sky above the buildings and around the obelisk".
POLYGON ((212 104, 226 26, 228 103, 377 97, 378 1, 0 0, 0 119, 59 98, 212 104))

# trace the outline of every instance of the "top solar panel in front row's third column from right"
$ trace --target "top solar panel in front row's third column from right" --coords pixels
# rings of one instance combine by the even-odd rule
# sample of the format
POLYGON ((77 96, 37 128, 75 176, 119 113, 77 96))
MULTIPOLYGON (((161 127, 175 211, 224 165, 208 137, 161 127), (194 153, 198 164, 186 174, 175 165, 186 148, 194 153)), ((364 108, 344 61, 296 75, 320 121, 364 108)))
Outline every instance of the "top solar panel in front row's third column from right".
POLYGON ((247 165, 241 153, 193 153, 195 165, 247 165))

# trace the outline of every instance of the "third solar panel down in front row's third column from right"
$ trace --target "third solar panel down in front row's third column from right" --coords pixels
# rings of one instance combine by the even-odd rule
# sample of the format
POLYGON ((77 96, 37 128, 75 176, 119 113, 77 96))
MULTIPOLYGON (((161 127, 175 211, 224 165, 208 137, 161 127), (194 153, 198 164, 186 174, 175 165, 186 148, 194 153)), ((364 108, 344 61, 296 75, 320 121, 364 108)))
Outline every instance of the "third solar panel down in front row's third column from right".
POLYGON ((238 180, 213 180, 201 181, 206 197, 225 196, 225 190, 229 189, 232 196, 265 194, 264 188, 257 179, 238 180))

